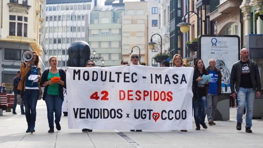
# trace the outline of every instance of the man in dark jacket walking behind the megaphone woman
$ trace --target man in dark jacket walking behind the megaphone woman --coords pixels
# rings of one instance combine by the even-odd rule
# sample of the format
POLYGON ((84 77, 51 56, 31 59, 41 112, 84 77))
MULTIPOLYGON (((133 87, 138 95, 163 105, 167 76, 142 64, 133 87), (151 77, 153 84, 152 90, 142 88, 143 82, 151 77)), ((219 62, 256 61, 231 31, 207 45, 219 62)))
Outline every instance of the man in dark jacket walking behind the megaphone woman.
MULTIPOLYGON (((13 79, 13 86, 14 86, 14 94, 15 94, 15 100, 14 100, 14 105, 13 105, 13 114, 16 114, 16 105, 17 105, 17 97, 16 95, 18 94, 17 86, 20 82, 20 71, 17 71, 17 76, 14 77, 13 79)), ((25 115, 25 110, 24 110, 24 102, 22 102, 22 105, 20 105, 21 109, 21 115, 25 115)))

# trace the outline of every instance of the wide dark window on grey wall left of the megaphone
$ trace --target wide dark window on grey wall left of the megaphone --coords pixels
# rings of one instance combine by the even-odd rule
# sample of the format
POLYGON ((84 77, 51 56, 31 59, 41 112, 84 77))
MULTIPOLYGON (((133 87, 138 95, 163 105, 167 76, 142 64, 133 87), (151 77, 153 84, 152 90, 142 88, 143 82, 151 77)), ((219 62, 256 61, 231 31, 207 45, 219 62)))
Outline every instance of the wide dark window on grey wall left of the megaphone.
POLYGON ((21 61, 22 55, 20 49, 4 48, 4 59, 5 60, 16 60, 21 61))

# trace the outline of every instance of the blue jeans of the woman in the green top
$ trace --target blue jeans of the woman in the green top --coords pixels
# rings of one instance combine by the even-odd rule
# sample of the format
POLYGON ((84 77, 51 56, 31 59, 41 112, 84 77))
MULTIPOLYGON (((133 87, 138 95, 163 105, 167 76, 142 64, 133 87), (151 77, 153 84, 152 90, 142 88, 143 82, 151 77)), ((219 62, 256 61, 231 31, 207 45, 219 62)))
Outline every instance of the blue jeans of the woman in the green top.
POLYGON ((59 95, 47 94, 45 102, 48 110, 48 125, 54 127, 54 112, 55 112, 55 123, 59 123, 61 118, 62 99, 59 95))

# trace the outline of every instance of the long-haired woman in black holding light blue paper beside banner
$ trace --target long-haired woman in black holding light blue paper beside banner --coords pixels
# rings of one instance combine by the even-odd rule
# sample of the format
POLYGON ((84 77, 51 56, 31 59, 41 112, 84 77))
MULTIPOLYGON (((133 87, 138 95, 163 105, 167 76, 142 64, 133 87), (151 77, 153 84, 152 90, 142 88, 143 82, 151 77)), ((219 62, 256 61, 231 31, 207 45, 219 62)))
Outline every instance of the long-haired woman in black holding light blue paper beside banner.
POLYGON ((196 130, 200 130, 200 124, 204 129, 207 129, 205 121, 205 116, 207 115, 207 87, 208 80, 205 84, 202 83, 202 76, 207 75, 207 71, 204 66, 202 59, 198 59, 195 62, 194 76, 193 76, 193 86, 192 91, 193 97, 193 108, 194 108, 194 118, 196 130), (200 104, 200 106, 199 106, 200 104), (199 109, 201 107, 201 109, 199 109), (199 113, 201 111, 201 114, 199 113), (201 120, 199 121, 199 116, 201 115, 201 120))

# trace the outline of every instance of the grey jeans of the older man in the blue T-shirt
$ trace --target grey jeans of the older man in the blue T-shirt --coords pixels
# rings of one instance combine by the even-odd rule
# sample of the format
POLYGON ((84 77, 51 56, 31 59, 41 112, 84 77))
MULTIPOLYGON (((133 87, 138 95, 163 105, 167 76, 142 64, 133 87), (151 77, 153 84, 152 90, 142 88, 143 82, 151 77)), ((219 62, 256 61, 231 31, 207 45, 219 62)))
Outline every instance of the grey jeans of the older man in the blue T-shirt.
POLYGON ((214 121, 217 106, 217 94, 207 94, 207 120, 214 121))

